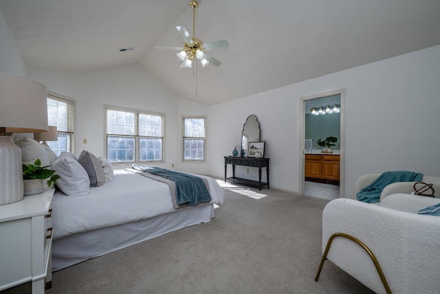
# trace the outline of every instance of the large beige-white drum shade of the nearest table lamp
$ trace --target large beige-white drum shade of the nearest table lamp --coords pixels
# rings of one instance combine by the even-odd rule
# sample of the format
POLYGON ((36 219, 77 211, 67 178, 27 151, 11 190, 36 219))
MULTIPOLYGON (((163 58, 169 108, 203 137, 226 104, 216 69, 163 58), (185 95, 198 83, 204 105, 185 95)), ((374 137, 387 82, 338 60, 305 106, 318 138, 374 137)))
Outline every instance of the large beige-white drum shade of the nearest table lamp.
POLYGON ((46 87, 0 72, 0 127, 9 133, 47 131, 46 87))

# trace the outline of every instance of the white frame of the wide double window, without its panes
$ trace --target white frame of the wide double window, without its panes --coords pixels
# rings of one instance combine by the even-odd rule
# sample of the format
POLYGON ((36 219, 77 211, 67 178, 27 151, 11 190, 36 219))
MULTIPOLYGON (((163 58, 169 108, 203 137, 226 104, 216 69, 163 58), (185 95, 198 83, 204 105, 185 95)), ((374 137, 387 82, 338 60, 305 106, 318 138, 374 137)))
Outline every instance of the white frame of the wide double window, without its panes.
POLYGON ((161 112, 152 112, 149 110, 143 109, 134 109, 128 107, 120 107, 114 105, 104 105, 104 154, 106 154, 106 158, 109 158, 109 136, 115 137, 126 137, 126 138, 135 138, 134 145, 134 160, 125 160, 125 161, 111 161, 112 164, 127 164, 127 163, 145 163, 145 162, 165 162, 165 114, 161 112), (114 110, 120 112, 129 112, 135 114, 135 125, 134 125, 134 134, 133 135, 125 135, 125 134, 110 134, 107 133, 107 111, 114 110), (161 118, 161 134, 162 136, 141 136, 139 129, 139 117, 140 114, 144 115, 152 115, 152 116, 160 116, 161 118), (140 139, 142 138, 154 138, 162 140, 162 158, 160 160, 140 160, 140 139))

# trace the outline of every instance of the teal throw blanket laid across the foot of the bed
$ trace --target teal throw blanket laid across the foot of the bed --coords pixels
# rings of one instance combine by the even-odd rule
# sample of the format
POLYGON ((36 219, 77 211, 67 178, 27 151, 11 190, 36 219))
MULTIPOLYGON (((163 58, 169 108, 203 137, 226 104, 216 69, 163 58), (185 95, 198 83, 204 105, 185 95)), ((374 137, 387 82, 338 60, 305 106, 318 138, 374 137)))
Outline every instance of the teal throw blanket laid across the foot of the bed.
POLYGON ((197 205, 202 202, 211 201, 211 196, 205 182, 198 176, 161 169, 160 167, 151 167, 149 165, 133 164, 132 168, 175 182, 177 204, 197 205))

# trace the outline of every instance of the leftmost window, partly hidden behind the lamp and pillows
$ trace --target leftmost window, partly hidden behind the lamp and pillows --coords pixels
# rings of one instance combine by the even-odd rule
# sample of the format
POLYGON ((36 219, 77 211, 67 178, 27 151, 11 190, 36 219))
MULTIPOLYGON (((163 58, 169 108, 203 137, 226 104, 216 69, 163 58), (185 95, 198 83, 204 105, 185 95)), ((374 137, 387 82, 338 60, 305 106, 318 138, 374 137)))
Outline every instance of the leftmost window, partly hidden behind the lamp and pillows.
POLYGON ((47 94, 47 123, 56 126, 58 141, 47 142, 57 156, 72 152, 74 143, 75 103, 67 98, 47 94))

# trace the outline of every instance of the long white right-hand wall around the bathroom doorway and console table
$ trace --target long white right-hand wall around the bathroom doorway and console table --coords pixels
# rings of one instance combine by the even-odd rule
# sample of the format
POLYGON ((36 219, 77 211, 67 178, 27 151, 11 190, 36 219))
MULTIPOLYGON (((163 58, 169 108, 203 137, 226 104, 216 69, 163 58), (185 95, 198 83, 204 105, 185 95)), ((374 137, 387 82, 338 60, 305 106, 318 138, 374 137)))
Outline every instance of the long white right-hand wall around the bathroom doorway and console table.
POLYGON ((226 141, 256 114, 270 158, 271 188, 300 191, 300 98, 346 89, 345 185, 362 174, 410 170, 440 176, 440 46, 210 107, 208 161, 223 177, 226 141))

